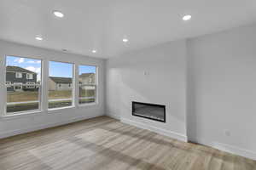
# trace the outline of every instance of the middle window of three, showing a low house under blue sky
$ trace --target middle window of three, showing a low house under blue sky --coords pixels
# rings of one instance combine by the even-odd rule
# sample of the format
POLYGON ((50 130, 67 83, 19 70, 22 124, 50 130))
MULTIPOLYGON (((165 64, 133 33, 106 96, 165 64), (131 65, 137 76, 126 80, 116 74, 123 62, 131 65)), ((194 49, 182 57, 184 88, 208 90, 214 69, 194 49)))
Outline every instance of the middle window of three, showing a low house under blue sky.
POLYGON ((73 64, 49 61, 49 109, 73 106, 73 64))

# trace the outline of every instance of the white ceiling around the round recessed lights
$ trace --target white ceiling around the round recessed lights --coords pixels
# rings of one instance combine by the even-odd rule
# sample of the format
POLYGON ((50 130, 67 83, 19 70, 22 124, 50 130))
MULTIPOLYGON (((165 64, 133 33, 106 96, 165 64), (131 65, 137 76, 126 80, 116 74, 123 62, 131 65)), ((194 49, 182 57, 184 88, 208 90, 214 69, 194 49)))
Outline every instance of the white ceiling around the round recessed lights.
POLYGON ((0 0, 1 39, 101 58, 255 21, 255 0, 0 0))

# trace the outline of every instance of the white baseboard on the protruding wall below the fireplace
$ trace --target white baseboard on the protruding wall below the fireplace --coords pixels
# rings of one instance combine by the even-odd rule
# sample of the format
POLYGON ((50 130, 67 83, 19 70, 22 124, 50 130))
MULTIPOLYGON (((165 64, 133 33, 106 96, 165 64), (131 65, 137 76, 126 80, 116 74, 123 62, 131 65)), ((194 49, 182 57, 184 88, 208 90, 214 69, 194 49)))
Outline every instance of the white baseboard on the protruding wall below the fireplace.
POLYGON ((121 120, 121 122, 153 131, 154 133, 160 133, 162 135, 168 136, 168 137, 173 138, 173 139, 178 139, 178 140, 181 140, 183 142, 188 142, 188 137, 183 135, 183 134, 180 134, 180 133, 175 133, 175 132, 168 131, 166 129, 162 129, 162 128, 158 128, 158 127, 152 127, 150 125, 146 125, 146 124, 141 123, 141 122, 134 122, 134 121, 131 121, 131 120, 125 119, 125 118, 121 118, 120 120, 121 120))

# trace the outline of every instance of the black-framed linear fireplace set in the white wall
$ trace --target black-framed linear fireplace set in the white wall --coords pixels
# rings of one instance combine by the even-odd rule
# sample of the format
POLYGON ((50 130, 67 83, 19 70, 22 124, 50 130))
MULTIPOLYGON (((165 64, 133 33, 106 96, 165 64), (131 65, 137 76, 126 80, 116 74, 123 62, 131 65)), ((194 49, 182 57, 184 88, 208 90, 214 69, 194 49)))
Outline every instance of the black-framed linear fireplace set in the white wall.
POLYGON ((166 122, 166 105, 147 104, 132 101, 132 115, 159 122, 166 122))

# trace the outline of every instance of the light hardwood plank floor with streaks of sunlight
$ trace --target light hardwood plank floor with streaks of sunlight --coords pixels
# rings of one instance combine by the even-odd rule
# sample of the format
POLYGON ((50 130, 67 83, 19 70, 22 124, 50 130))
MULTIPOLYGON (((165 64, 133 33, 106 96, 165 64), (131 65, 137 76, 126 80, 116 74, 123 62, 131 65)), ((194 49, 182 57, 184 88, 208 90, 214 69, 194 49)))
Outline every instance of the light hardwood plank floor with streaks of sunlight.
POLYGON ((256 170, 256 161, 107 116, 0 139, 0 170, 256 170))

